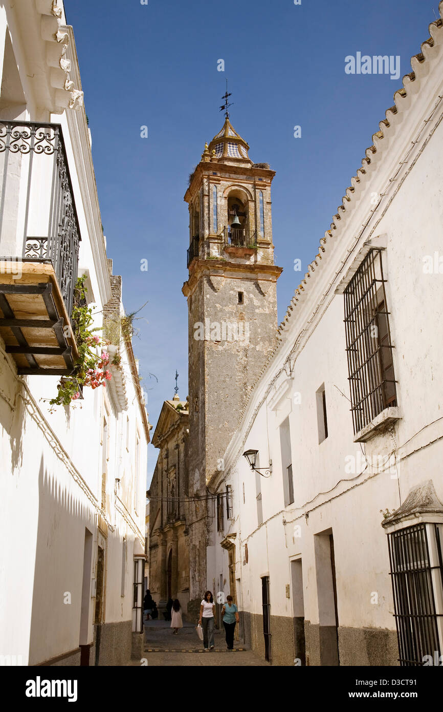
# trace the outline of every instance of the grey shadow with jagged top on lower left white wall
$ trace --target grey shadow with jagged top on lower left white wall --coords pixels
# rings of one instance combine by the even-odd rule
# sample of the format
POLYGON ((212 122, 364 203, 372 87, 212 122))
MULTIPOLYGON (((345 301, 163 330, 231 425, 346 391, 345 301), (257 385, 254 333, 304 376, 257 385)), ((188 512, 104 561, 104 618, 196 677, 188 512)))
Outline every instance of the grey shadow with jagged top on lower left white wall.
MULTIPOLYGON (((54 456, 55 457, 55 456, 54 456)), ((55 460, 60 468, 63 464, 55 460)), ((93 535, 93 570, 97 560, 97 514, 73 493, 66 491, 55 477, 55 466, 45 463, 41 456, 38 471, 38 525, 36 528, 35 573, 29 642, 29 665, 50 661, 58 656, 72 653, 63 663, 80 664, 80 619, 82 609, 82 586, 84 578, 85 530, 93 535)), ((37 467, 36 467, 37 469, 37 467)), ((36 472, 37 476, 37 472, 36 472)), ((70 476, 69 476, 70 477, 70 476)), ((73 482, 73 488, 78 486, 73 482)), ((123 536, 108 530, 106 557, 119 556, 121 562, 123 536)), ((33 543, 31 542, 31 545, 33 543)), ((129 567, 129 562, 127 562, 129 567)), ((106 569, 103 598, 106 597, 106 569)), ((130 567, 127 569, 130 570, 130 567)), ((117 568, 116 568, 117 571, 117 568)), ((31 576, 32 573, 28 572, 31 576)), ((90 586, 90 570, 87 571, 87 590, 90 586)), ((92 573, 92 577, 95 573, 92 573)), ((120 585, 121 569, 118 571, 120 585)), ((117 586, 117 582, 114 582, 117 586)), ((22 584, 21 584, 22 585, 22 584)), ((114 587, 115 587, 114 586, 114 587)), ((127 595, 130 595, 127 592, 127 595)), ((89 600, 89 619, 95 617, 95 599, 89 600), (92 609, 92 610, 91 610, 92 609)), ((100 618, 102 607, 100 607, 100 618)), ((131 646, 131 621, 125 622, 124 645, 131 646), (127 627, 129 624, 129 633, 127 627), (126 638, 129 638, 126 641, 126 638)), ((118 625, 118 624, 111 624, 118 625)), ((116 640, 116 643, 119 641, 116 640)), ((91 656, 90 665, 94 665, 91 656)), ((110 664, 104 661, 104 664, 110 664)), ((112 663, 111 663, 112 664, 112 663)), ((119 664, 119 663, 117 663, 119 664)))

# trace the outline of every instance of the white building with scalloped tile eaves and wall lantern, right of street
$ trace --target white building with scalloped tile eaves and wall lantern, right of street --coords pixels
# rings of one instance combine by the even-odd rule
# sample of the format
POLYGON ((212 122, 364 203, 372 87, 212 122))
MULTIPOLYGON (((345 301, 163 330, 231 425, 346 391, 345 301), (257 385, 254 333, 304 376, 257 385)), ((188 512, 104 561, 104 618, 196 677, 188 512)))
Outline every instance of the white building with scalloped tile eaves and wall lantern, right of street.
POLYGON ((232 498, 207 580, 273 664, 443 653, 442 19, 429 33, 208 482, 232 498))

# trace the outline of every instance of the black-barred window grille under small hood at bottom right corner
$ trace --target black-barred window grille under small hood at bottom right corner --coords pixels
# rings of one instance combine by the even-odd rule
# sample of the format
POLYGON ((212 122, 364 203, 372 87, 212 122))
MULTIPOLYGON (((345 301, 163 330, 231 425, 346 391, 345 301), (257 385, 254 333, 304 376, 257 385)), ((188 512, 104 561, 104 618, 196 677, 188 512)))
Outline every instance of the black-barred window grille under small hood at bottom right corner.
POLYGON ((439 530, 435 524, 420 523, 390 533, 388 545, 400 665, 423 665, 425 656, 441 654, 443 613, 435 600, 436 595, 442 598, 439 530), (429 543, 434 555, 429 555, 429 543))

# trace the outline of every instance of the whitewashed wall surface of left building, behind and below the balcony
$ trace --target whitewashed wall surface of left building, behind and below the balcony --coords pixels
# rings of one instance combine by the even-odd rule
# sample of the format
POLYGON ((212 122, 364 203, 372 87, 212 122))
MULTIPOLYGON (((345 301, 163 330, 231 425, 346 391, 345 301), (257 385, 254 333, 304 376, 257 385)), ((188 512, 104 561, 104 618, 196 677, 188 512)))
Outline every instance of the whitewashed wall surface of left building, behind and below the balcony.
MULTIPOLYGON (((38 52, 43 56, 48 44, 41 38, 41 17, 34 21, 37 5, 34 0, 30 3, 27 19, 21 6, 0 7, 0 71, 8 27, 26 95, 26 112, 21 117, 59 122, 63 127, 82 236, 79 268, 80 272, 88 273, 92 288, 89 296, 97 311, 95 325, 100 326, 100 313, 110 300, 111 290, 90 134, 83 108, 60 113, 59 108, 53 107, 57 110, 54 112, 48 105, 43 110, 47 97, 38 93, 38 83, 31 84, 28 80, 30 56, 38 52)), ((62 6, 60 2, 59 5, 62 6)), ((73 63, 72 78, 78 82, 73 38, 68 55, 73 63)), ((44 73, 49 74, 50 68, 43 63, 38 70, 43 72, 42 81, 48 80, 44 73)), ((42 190, 45 188, 49 193, 50 185, 42 184, 42 190)), ((23 210, 23 201, 20 209, 23 210)), ((109 388, 106 392, 102 388, 95 391, 86 388, 84 400, 70 409, 57 407, 51 413, 49 399, 57 393, 58 378, 18 378, 14 361, 6 355, 0 340, 0 535, 4 541, 0 567, 0 654, 21 656, 22 664, 38 664, 79 646, 85 528, 93 535, 90 580, 97 575, 97 545, 101 537, 97 513, 101 503, 105 412, 110 428, 106 511, 110 530, 103 622, 132 619, 137 538, 140 550, 144 548, 147 441, 125 349, 122 368, 127 411, 119 412, 109 388), (138 471, 136 431, 140 439, 138 471), (118 488, 116 478, 120 479, 118 488), (123 538, 127 540, 127 560, 122 589, 123 538)), ((94 612, 95 599, 91 596, 87 641, 82 642, 92 643, 94 612)))

